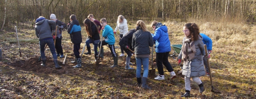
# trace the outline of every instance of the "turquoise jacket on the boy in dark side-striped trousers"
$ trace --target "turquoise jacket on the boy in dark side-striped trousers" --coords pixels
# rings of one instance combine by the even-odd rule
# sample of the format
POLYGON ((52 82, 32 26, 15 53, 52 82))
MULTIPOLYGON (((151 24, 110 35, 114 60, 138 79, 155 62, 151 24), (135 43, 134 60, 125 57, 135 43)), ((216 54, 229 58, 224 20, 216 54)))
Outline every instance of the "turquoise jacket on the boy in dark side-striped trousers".
POLYGON ((109 45, 114 45, 115 44, 115 37, 114 37, 114 32, 112 27, 109 25, 106 25, 104 27, 104 30, 102 31, 102 36, 105 38, 105 42, 108 43, 109 45))

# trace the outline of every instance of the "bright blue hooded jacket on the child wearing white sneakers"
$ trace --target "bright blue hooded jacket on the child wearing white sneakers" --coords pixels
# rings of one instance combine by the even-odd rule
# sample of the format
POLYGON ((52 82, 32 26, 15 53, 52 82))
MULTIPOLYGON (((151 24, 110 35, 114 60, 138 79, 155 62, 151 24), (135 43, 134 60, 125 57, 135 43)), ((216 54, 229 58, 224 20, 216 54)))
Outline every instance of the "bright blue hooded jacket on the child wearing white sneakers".
POLYGON ((155 33, 152 34, 153 40, 156 41, 156 52, 163 53, 171 51, 171 43, 169 40, 167 26, 162 23, 156 25, 155 33))

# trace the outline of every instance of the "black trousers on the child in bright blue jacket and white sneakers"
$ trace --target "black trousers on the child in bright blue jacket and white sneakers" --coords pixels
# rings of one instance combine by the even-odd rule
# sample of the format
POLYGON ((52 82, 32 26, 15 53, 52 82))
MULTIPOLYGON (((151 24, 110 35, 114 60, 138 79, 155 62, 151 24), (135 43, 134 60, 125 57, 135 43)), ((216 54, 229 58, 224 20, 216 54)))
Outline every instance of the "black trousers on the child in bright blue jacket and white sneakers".
POLYGON ((170 51, 163 52, 163 53, 156 52, 156 55, 157 55, 156 56, 156 59, 157 59, 157 69, 158 69, 159 75, 164 75, 163 64, 165 65, 165 67, 168 70, 168 72, 174 71, 172 65, 168 61, 169 52, 170 51))

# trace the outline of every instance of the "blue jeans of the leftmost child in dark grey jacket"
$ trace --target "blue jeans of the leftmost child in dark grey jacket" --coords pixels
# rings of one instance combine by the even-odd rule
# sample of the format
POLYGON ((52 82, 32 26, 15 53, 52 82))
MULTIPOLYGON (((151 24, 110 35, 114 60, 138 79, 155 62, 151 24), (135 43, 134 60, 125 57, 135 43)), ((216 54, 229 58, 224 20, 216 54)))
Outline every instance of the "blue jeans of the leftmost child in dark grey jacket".
POLYGON ((46 60, 46 57, 45 57, 45 45, 46 44, 48 45, 48 47, 50 48, 50 50, 52 52, 53 60, 58 60, 56 51, 55 51, 55 47, 54 47, 53 39, 39 41, 40 54, 41 54, 42 60, 46 60))

